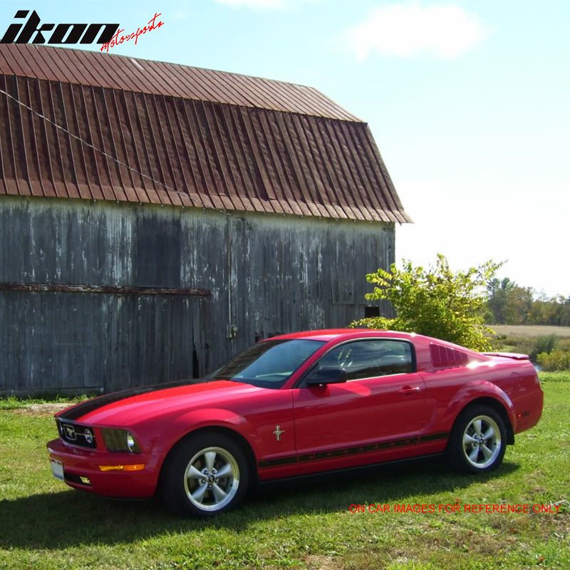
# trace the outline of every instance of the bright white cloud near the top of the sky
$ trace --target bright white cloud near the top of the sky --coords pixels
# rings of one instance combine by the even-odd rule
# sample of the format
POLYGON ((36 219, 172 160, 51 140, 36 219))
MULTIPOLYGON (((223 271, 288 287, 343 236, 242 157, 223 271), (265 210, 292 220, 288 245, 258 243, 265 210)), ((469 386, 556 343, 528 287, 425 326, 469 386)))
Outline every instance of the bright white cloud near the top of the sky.
POLYGON ((374 50, 383 56, 427 53, 455 58, 486 35, 477 14, 459 6, 423 7, 414 3, 371 11, 366 21, 348 29, 344 39, 359 60, 374 50))

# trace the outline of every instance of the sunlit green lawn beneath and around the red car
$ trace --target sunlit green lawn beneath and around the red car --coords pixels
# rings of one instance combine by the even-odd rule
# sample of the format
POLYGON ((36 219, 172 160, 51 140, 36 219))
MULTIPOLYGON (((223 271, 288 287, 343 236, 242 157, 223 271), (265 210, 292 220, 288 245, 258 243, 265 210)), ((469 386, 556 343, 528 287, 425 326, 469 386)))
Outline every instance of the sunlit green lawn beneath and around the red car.
MULTIPOLYGON (((0 569, 570 569, 570 373, 492 475, 430 462, 265 490, 203 522, 54 479, 53 418, 0 406, 0 569), (548 513, 351 513, 351 504, 551 504, 548 513)), ((11 406, 14 407, 14 406, 11 406)))

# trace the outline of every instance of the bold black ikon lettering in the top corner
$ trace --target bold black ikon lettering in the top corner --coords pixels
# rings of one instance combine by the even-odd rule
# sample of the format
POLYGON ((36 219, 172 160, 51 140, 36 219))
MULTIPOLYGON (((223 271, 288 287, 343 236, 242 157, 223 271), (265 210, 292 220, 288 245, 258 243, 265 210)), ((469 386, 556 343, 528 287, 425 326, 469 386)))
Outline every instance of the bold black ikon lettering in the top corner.
MULTIPOLYGON (((26 18, 29 10, 19 10, 14 18, 26 18)), ((0 43, 108 43, 119 28, 119 24, 41 24, 35 10, 31 11, 26 24, 10 24, 0 43), (56 28, 53 30, 53 28, 56 28), (101 30, 103 28, 103 30, 101 30), (53 30, 48 41, 42 32, 53 30), (100 33, 99 33, 100 32, 100 33), (99 37, 97 38, 97 34, 99 37), (17 37, 16 37, 17 36, 17 37), (95 41, 95 38, 97 40, 95 41)))

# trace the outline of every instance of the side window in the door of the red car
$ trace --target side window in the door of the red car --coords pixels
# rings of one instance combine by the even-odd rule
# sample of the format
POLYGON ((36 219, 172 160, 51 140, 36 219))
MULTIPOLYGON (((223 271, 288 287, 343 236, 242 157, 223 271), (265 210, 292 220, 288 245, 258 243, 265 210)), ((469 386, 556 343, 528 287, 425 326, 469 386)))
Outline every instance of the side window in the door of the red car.
POLYGON ((412 346, 406 341, 385 339, 353 341, 328 351, 317 370, 342 368, 346 380, 375 378, 415 371, 412 346))

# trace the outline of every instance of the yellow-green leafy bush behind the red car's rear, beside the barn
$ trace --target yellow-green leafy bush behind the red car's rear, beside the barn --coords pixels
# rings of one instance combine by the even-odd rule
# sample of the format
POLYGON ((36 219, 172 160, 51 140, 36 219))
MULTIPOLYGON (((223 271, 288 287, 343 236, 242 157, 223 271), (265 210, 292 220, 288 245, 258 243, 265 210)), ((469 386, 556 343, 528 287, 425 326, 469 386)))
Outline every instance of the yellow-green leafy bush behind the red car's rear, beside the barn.
POLYGON ((368 282, 375 284, 366 299, 387 299, 396 317, 363 318, 351 326, 415 332, 478 351, 489 350, 485 334, 493 331, 483 324, 484 293, 500 266, 502 263, 489 260, 454 273, 445 256, 437 254, 435 267, 427 270, 405 260, 403 269, 395 264, 390 271, 378 269, 366 276, 368 282))

